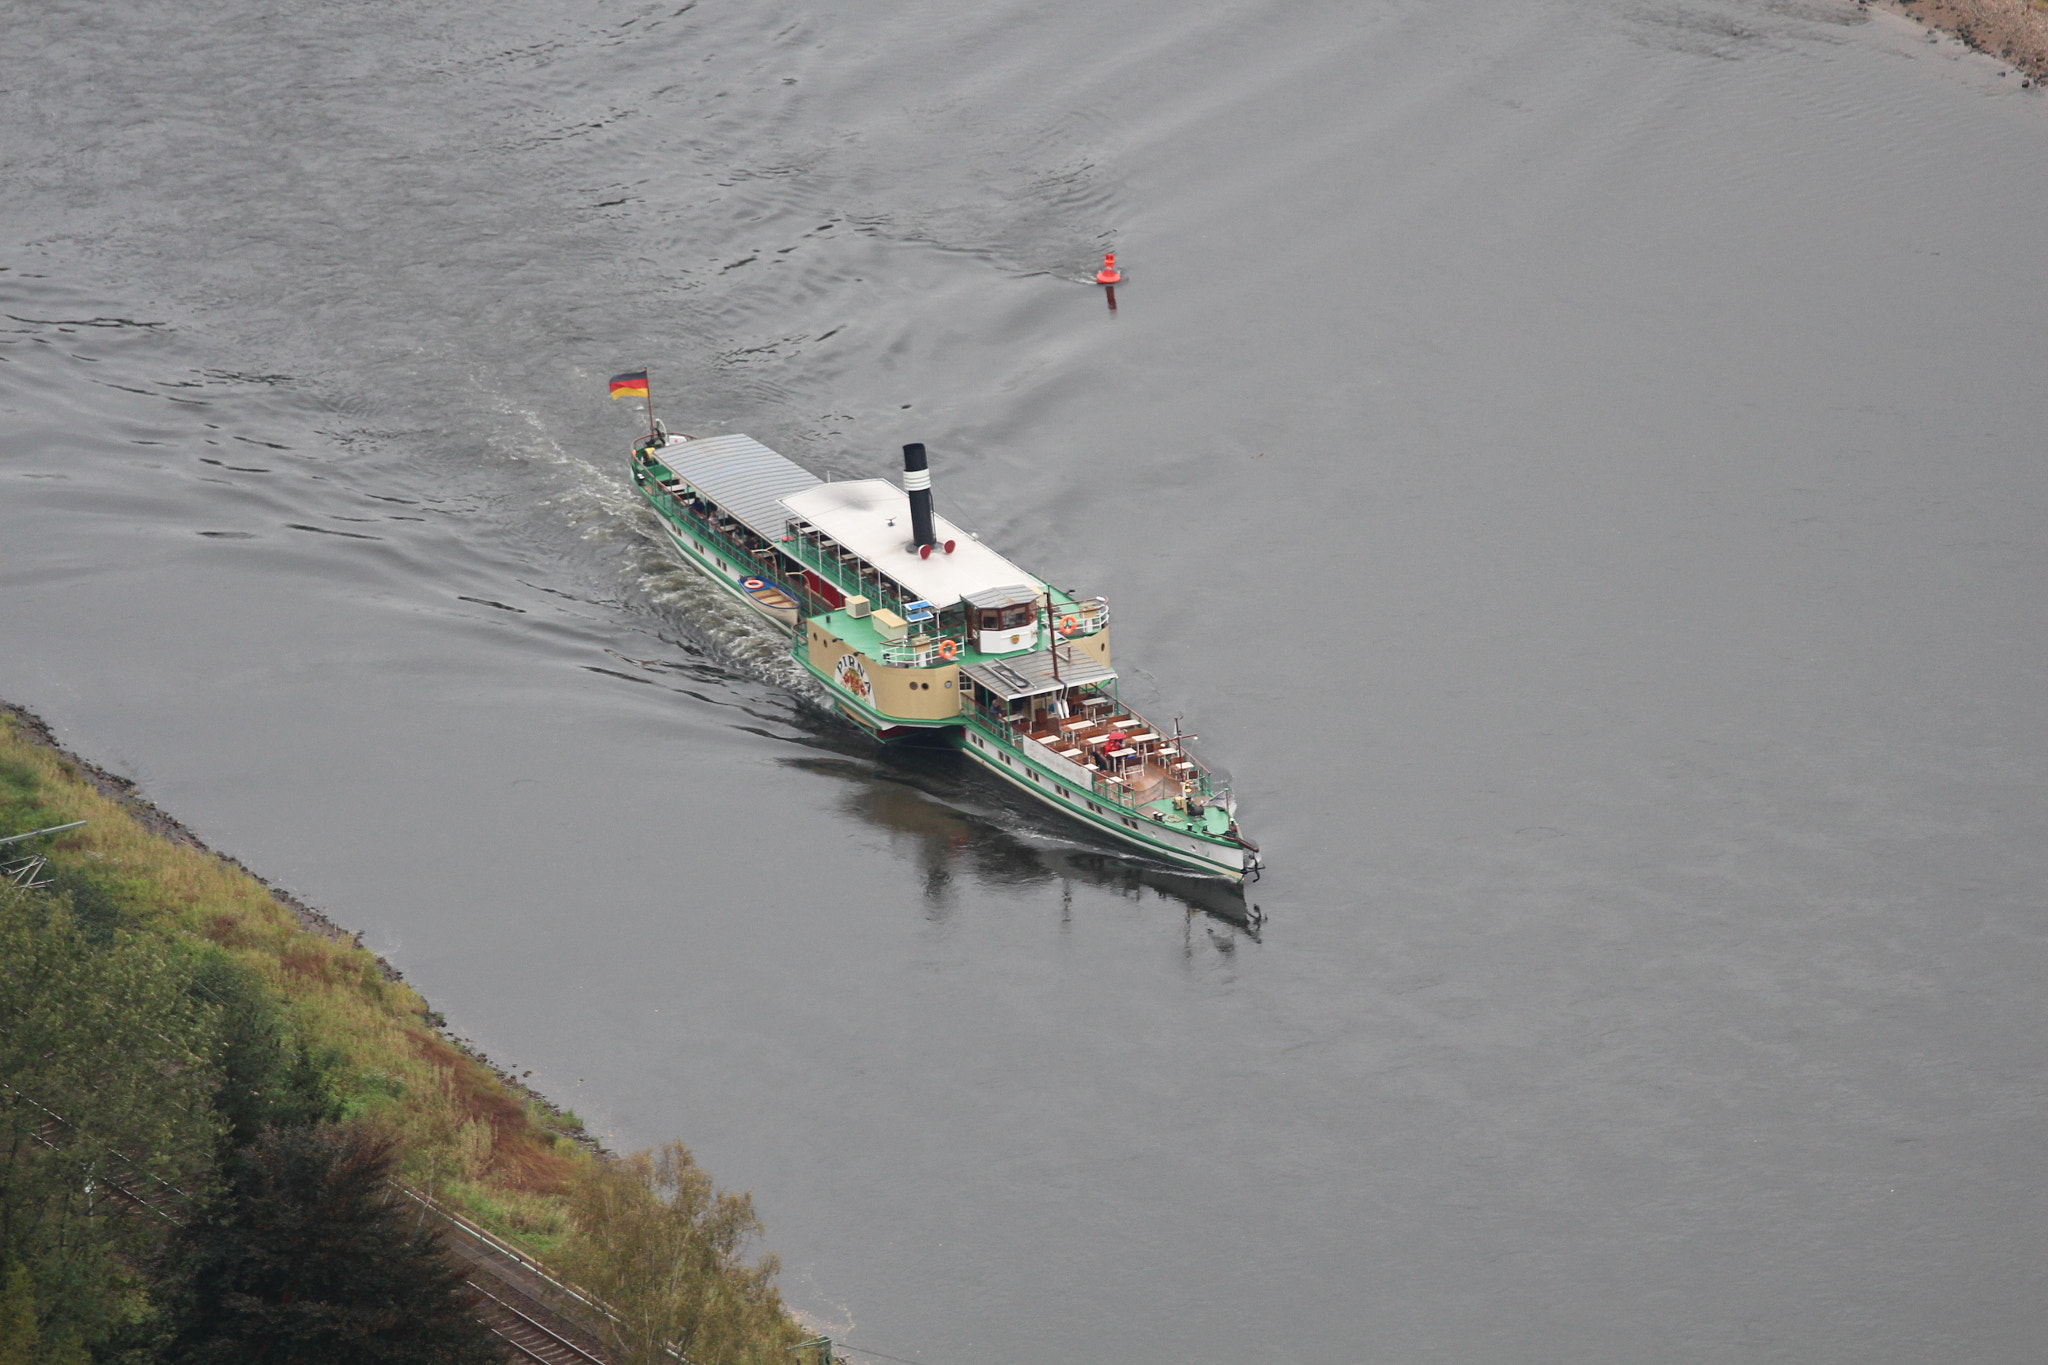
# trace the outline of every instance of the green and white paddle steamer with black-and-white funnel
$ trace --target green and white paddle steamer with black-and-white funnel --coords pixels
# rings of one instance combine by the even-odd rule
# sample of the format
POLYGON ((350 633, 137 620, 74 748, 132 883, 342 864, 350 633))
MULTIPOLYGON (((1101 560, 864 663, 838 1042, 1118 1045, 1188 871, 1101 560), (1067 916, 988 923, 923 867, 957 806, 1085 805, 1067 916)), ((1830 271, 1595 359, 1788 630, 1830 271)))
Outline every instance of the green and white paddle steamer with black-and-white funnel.
POLYGON ((936 516, 922 444, 903 446, 903 487, 829 483, 752 436, 655 422, 633 448, 633 485, 686 563, 795 636, 797 663, 860 729, 944 735, 1112 839, 1233 880, 1257 872, 1194 737, 1122 704, 1110 604, 936 516))

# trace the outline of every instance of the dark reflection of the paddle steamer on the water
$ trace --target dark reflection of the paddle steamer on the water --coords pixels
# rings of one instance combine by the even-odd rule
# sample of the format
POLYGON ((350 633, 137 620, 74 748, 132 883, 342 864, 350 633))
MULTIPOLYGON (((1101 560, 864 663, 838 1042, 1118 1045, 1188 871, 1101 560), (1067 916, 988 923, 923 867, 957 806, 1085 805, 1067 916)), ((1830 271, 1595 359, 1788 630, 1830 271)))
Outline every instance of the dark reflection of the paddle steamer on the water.
POLYGON ((1260 937, 1264 913, 1241 886, 1182 874, 1126 853, 1073 841, 1051 821, 1018 810, 997 784, 981 778, 950 747, 885 745, 872 757, 791 757, 788 767, 848 784, 842 808, 860 821, 918 841, 924 898, 948 905, 958 882, 993 886, 1073 884, 1118 896, 1145 892, 1260 937))

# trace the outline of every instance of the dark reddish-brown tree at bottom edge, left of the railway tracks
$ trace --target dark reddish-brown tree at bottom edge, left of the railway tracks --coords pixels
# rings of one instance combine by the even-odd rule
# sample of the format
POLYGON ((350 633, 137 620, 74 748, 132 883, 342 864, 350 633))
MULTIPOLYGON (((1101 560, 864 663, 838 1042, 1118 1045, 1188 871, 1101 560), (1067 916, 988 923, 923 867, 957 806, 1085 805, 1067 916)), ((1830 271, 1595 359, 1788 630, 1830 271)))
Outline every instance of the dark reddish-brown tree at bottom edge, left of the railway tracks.
POLYGON ((500 1365, 440 1234, 393 1193, 395 1144, 358 1124, 274 1128, 176 1242, 178 1365, 500 1365))

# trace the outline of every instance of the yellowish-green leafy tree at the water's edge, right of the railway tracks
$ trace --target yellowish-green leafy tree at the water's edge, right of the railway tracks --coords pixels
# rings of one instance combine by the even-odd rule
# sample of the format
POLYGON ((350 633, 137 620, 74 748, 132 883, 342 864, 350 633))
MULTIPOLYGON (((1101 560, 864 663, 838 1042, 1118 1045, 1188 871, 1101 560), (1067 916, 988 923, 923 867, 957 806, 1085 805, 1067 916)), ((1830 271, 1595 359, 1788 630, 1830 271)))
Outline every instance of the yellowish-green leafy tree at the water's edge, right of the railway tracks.
POLYGON ((741 1259, 760 1234, 750 1195, 719 1193, 690 1148, 592 1162, 571 1193, 559 1269, 610 1310, 606 1347, 623 1365, 786 1363, 797 1338, 774 1289, 780 1263, 741 1259))

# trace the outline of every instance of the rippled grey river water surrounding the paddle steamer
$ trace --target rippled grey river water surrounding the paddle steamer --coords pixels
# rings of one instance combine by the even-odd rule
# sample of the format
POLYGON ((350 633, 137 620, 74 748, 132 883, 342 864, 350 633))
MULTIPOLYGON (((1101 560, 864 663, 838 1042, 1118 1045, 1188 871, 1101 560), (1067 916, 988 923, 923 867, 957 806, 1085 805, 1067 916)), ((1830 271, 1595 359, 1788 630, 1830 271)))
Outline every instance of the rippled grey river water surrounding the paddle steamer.
POLYGON ((2040 1359, 1993 61, 1833 0, 137 0, 0 74, 0 696, 754 1189, 836 1336, 2040 1359), (635 508, 639 366, 922 440, 1108 593, 1264 931, 834 722, 635 508))

